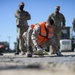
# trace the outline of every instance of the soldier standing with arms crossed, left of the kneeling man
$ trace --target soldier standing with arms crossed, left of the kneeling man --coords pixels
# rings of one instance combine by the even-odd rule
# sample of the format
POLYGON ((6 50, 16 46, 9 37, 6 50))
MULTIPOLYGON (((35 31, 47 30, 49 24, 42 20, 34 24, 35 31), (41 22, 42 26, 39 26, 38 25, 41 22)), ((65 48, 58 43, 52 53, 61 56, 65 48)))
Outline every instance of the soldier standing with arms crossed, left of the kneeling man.
POLYGON ((28 29, 28 23, 27 20, 31 19, 30 14, 23 10, 25 4, 23 2, 20 2, 19 9, 15 12, 16 19, 16 26, 17 26, 17 49, 15 54, 19 54, 20 51, 23 52, 23 55, 25 54, 25 47, 24 47, 24 40, 22 38, 22 34, 27 31, 28 29), (19 51, 20 50, 20 51, 19 51))

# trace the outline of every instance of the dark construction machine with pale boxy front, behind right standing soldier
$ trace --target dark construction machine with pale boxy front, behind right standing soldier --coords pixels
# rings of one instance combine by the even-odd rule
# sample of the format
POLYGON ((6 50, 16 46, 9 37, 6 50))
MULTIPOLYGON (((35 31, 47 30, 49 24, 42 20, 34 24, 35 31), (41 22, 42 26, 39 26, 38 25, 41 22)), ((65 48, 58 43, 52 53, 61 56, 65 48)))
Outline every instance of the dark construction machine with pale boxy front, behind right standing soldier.
POLYGON ((60 40, 60 51, 74 51, 75 48, 75 36, 71 27, 65 27, 62 29, 62 36, 60 40), (71 35, 72 32, 72 35, 71 35), (70 35, 72 38, 70 38, 70 35))

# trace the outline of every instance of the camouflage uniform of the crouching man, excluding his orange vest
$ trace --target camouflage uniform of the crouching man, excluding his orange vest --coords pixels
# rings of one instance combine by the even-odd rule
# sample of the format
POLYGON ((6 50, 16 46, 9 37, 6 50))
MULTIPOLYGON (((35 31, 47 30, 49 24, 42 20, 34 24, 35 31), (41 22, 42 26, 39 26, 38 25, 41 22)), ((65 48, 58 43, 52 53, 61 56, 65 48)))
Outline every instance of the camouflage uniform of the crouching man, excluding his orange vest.
MULTIPOLYGON (((58 46, 57 46, 55 38, 52 37, 48 41, 38 44, 37 36, 39 33, 40 33, 40 26, 38 24, 36 24, 34 29, 32 29, 31 27, 28 28, 27 32, 23 34, 23 38, 27 44, 27 47, 29 48, 29 47, 40 45, 42 48, 45 48, 52 45, 54 52, 57 54, 58 46)), ((32 51, 31 48, 28 49, 28 51, 31 52, 32 51)))

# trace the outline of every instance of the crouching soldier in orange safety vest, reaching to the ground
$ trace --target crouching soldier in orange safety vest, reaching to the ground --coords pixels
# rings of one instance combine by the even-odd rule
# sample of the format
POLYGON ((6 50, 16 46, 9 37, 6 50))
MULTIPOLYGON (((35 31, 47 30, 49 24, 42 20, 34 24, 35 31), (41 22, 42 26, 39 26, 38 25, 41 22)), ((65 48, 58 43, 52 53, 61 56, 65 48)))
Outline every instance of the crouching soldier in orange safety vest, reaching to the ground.
POLYGON ((32 52, 36 49, 38 52, 42 52, 45 47, 50 44, 53 47, 54 52, 58 56, 62 54, 58 51, 58 46, 54 38, 54 21, 49 18, 47 22, 41 22, 32 24, 27 32, 23 34, 23 38, 27 44, 27 57, 32 57, 32 52), (33 49, 32 49, 33 47, 33 49))

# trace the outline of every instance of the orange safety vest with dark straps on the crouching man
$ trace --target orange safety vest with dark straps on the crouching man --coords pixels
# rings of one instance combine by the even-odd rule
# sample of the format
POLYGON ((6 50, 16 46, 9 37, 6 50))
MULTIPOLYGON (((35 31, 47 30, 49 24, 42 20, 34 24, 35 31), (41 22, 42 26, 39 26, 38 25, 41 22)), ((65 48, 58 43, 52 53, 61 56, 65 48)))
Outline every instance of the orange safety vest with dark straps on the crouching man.
MULTIPOLYGON (((46 22, 41 22, 38 24, 40 25, 40 33, 38 35, 38 44, 40 44, 40 43, 48 41, 50 37, 54 36, 54 34, 53 34, 53 28, 52 27, 50 28, 50 30, 47 33, 47 31, 45 29, 46 22)), ((34 26, 35 26, 35 24, 32 24, 31 28, 33 29, 34 26)))

